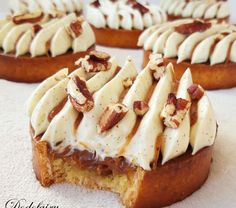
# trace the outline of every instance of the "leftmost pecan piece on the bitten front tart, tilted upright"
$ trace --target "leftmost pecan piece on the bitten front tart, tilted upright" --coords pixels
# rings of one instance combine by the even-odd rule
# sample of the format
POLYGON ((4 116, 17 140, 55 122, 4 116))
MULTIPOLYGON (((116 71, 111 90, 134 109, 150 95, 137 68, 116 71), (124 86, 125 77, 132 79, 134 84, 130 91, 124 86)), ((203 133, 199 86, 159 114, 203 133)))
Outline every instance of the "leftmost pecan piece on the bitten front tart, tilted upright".
POLYGON ((77 96, 74 96, 71 89, 67 89, 71 104, 78 112, 88 112, 94 106, 93 96, 89 92, 86 82, 80 79, 78 76, 72 78, 75 84, 77 96))

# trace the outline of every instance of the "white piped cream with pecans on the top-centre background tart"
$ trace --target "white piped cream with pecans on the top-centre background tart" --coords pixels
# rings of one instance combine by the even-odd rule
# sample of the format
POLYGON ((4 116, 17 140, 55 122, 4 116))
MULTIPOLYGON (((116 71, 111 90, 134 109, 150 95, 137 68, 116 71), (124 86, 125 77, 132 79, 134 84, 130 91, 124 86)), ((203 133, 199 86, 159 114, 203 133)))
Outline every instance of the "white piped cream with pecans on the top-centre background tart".
POLYGON ((95 0, 86 7, 85 15, 96 28, 143 30, 166 21, 166 14, 158 6, 135 0, 95 0))

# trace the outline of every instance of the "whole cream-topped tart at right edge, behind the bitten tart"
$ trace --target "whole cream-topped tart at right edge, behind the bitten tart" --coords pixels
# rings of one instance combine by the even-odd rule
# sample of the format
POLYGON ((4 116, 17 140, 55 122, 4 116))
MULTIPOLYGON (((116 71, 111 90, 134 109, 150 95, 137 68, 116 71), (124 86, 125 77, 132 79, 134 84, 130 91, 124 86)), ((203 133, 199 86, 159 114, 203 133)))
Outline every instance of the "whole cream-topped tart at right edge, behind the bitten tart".
POLYGON ((172 62, 177 78, 187 67, 193 80, 205 89, 236 86, 236 27, 216 21, 176 20, 150 27, 138 45, 144 49, 143 65, 150 53, 161 53, 172 62))

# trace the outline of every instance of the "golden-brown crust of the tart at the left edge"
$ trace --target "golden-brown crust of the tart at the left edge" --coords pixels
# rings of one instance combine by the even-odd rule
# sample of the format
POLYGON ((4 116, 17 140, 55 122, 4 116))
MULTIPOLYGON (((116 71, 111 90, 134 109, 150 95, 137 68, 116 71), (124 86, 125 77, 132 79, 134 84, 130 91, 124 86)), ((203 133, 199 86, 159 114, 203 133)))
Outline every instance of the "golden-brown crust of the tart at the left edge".
POLYGON ((62 68, 75 70, 75 61, 84 57, 95 47, 90 47, 86 52, 72 53, 50 57, 39 56, 32 58, 30 55, 16 57, 13 54, 0 53, 0 78, 15 82, 34 83, 40 82, 53 75, 62 68))

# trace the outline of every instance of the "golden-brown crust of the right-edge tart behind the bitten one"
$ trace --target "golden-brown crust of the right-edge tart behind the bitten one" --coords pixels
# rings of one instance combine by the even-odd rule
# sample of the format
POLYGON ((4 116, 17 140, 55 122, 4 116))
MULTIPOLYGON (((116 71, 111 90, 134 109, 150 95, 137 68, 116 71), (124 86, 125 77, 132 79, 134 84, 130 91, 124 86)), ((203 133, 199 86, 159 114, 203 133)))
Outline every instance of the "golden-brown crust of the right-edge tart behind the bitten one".
MULTIPOLYGON (((143 67, 149 62, 151 51, 144 51, 143 67)), ((236 86, 236 63, 224 64, 191 64, 177 63, 177 59, 164 59, 165 63, 174 65, 176 78, 179 80, 187 68, 191 69, 194 83, 200 84, 207 90, 224 89, 236 86)))

